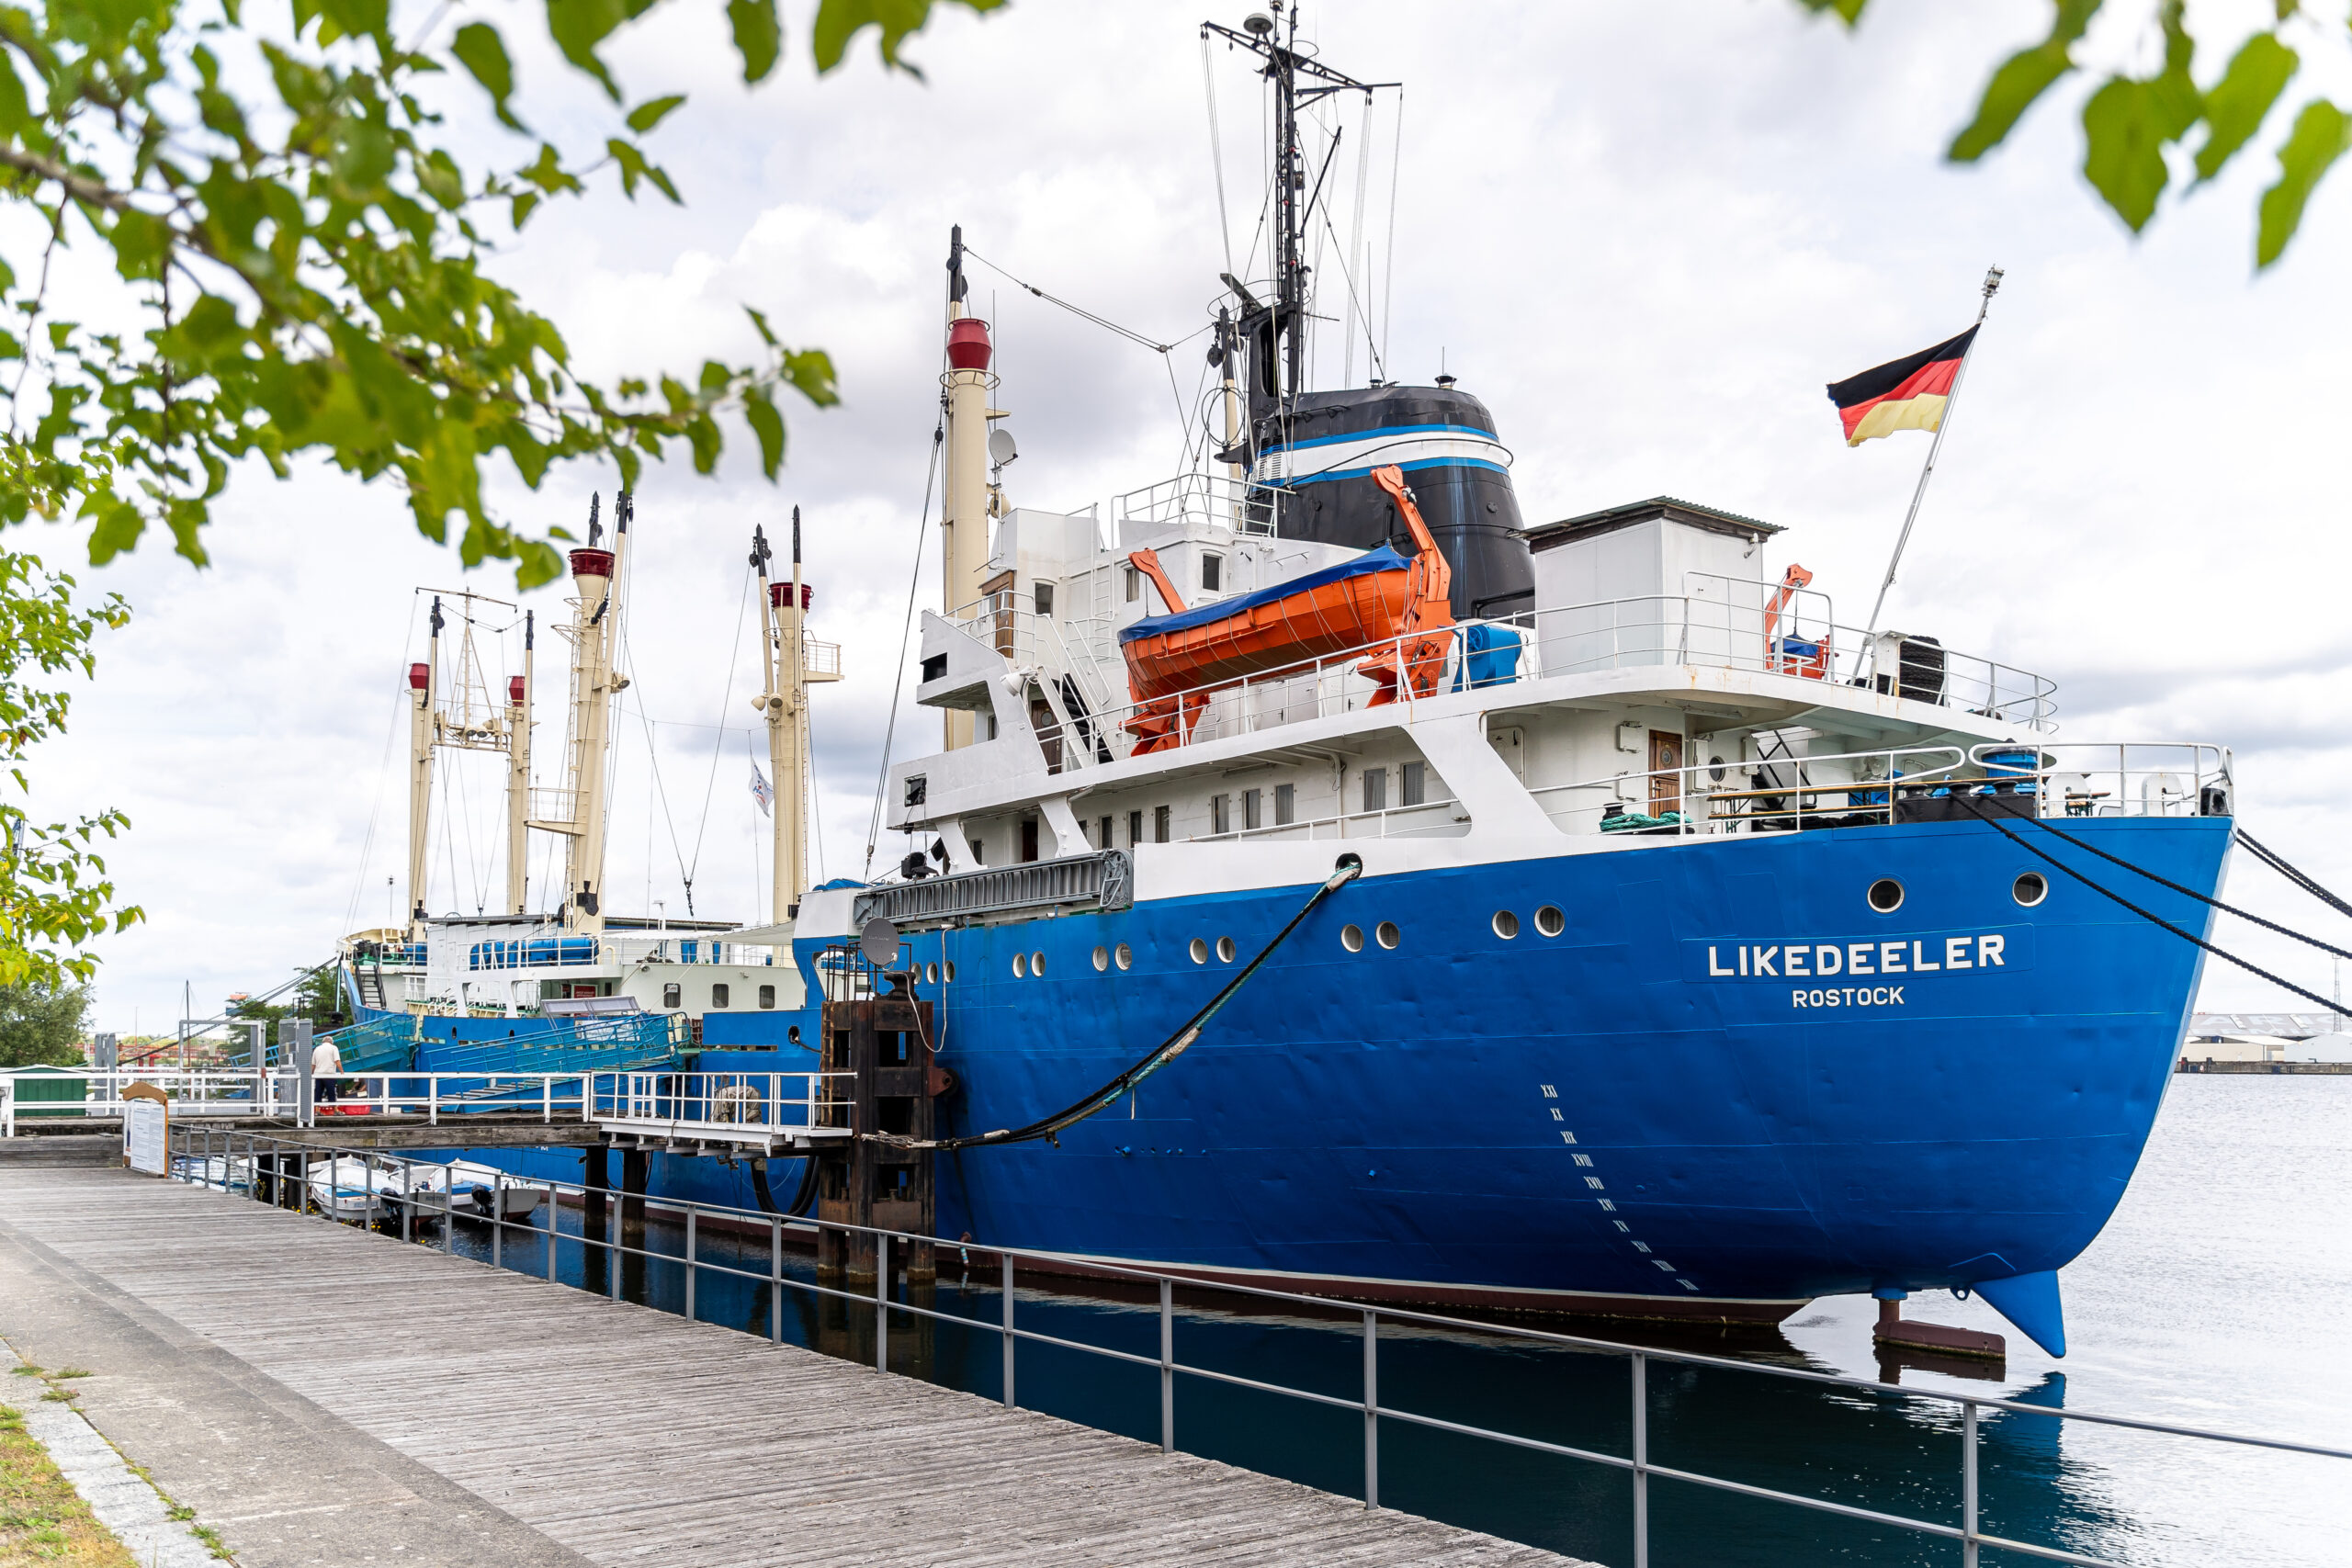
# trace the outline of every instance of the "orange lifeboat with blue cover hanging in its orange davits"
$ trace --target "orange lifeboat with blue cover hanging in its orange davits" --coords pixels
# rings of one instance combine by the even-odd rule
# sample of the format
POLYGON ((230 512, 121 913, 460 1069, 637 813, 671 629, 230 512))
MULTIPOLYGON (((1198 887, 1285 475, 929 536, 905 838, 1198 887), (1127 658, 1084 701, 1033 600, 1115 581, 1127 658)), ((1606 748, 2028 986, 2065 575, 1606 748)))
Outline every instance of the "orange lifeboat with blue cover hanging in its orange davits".
POLYGON ((1371 477, 1395 496, 1416 555, 1381 545, 1352 562, 1197 609, 1183 609, 1155 552, 1127 557, 1152 578, 1171 611, 1120 632, 1127 686, 1141 705, 1127 722, 1138 738, 1136 752, 1176 745, 1178 726, 1190 733, 1218 686, 1350 649, 1371 649, 1357 670, 1376 684, 1374 708, 1395 703, 1399 686, 1414 696, 1437 691, 1454 637, 1446 604, 1454 571, 1421 520, 1404 473, 1378 468, 1371 477))

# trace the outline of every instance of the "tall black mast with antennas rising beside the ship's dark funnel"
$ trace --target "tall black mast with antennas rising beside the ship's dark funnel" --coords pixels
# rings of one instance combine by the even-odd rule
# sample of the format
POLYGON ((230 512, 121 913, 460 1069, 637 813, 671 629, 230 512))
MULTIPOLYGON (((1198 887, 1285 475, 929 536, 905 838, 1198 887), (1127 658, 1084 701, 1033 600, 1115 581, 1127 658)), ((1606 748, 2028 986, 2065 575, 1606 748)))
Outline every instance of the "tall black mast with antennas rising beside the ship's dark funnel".
POLYGON ((1298 110, 1336 92, 1362 92, 1369 101, 1376 87, 1397 87, 1397 82, 1359 82, 1310 54, 1301 54, 1298 7, 1284 7, 1282 0, 1272 0, 1272 14, 1251 14, 1240 31, 1204 21, 1200 33, 1202 38, 1214 33, 1263 59, 1261 75, 1275 87, 1275 296, 1258 301, 1240 277, 1225 275, 1225 287, 1242 301, 1237 331, 1249 343, 1249 414, 1251 425, 1256 425, 1268 414, 1284 411, 1305 390, 1308 273, 1312 270, 1305 263, 1305 230, 1315 197, 1322 193, 1322 176, 1310 190, 1305 148, 1298 143, 1298 110))

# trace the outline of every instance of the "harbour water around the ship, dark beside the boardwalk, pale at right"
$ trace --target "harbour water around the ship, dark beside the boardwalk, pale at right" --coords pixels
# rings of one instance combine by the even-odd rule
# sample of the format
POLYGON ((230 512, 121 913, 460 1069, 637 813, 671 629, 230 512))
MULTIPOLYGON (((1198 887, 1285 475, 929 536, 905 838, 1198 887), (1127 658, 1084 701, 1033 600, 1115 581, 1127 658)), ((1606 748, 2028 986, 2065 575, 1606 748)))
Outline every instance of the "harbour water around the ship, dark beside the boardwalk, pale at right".
MULTIPOLYGON (((602 1258, 560 1215, 557 1274, 607 1291, 602 1258)), ((680 1253, 682 1225, 656 1218, 647 1246, 680 1253)), ((456 1251, 487 1255, 487 1232, 461 1225, 456 1251)), ((764 1239, 713 1234, 706 1262, 764 1276, 764 1239)), ((543 1272, 543 1239, 508 1232, 503 1262, 543 1272)), ((786 1274, 811 1281, 804 1253, 786 1274)), ((1907 1302, 1912 1316, 2009 1333, 1999 1380, 1964 1366, 1882 1363, 1875 1302, 1818 1300, 1776 1331, 1616 1335, 1759 1363, 1886 1378, 1903 1389, 1966 1389, 2192 1427, 2352 1446, 2352 1079, 2178 1077, 2114 1220, 2065 1269, 2072 1354, 2060 1363, 2006 1331, 1978 1300, 1907 1302)), ((623 1260, 621 1293, 670 1312, 684 1305, 675 1262, 623 1260)), ((894 1314, 891 1371, 997 1396, 1002 1314, 995 1269, 960 1267, 941 1246, 938 1286, 898 1300, 974 1319, 971 1328, 894 1314)), ((769 1286, 703 1269, 696 1316, 769 1331, 769 1286)), ((1362 1326, 1265 1312, 1247 1298, 1178 1298, 1176 1359, 1334 1399, 1362 1392, 1362 1326)), ((873 1307, 783 1291, 783 1338, 873 1361, 873 1307)), ((1157 1356, 1157 1300, 1096 1288, 1033 1288, 1021 1328, 1157 1356)), ((1160 1436, 1157 1373, 1051 1345, 1021 1345, 1023 1406, 1160 1436)), ((1915 1394, 1830 1389, 1726 1368, 1651 1363, 1651 1460, 1752 1486, 1957 1523, 1957 1406, 1915 1394)), ((1501 1335, 1383 1324, 1381 1403, 1555 1443, 1625 1453, 1630 1378, 1621 1354, 1536 1347, 1501 1335)), ((779 1410, 776 1420, 790 1420, 779 1410)), ((1181 1448, 1334 1493, 1362 1488, 1362 1418, 1202 1378, 1178 1378, 1181 1448)), ((1987 1415, 1980 1448, 1983 1528, 2133 1566, 2303 1566, 2352 1556, 2352 1462, 2230 1448, 2086 1422, 1987 1415)), ((1630 1481, 1618 1469, 1439 1434, 1381 1427, 1383 1505, 1543 1544, 1611 1568, 1632 1563, 1630 1481)), ((1802 1563, 1957 1563, 1959 1547, 1811 1509, 1651 1483, 1651 1561, 1661 1568, 1797 1568, 1802 1563)), ((1985 1561, 1999 1561, 1987 1552, 1985 1561)), ((2025 1561, 2025 1559, 2013 1559, 2025 1561)))

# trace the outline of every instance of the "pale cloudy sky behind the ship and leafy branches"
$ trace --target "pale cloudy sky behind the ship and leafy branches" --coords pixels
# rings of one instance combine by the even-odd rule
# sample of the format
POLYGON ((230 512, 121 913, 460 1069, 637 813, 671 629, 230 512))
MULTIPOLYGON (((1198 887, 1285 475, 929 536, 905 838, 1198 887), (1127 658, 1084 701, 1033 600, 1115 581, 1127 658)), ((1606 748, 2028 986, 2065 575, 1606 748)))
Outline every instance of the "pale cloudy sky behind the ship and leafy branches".
MULTIPOLYGON (((527 113, 593 146, 607 110, 522 38, 529 9, 510 24, 527 113)), ((597 195, 548 212, 499 261, 595 374, 746 360, 750 303, 788 341, 828 348, 842 376, 840 409, 793 411, 779 487, 729 461, 717 480, 677 465, 637 491, 637 679, 609 870, 623 910, 659 900, 682 914, 691 870, 696 912, 767 914, 746 762, 757 686, 739 628, 750 529, 779 531, 793 503, 807 515, 816 635, 849 661, 816 710, 823 867, 856 872, 866 858, 917 562, 948 226, 1011 275, 1157 341, 1204 322, 1228 233, 1237 256, 1251 244, 1258 85, 1211 52, 1228 230, 1197 0, 943 9, 910 45, 924 82, 884 75, 870 40, 814 80, 809 7, 793 9, 793 52, 755 92, 731 73, 715 5, 673 5, 623 33, 609 56, 630 101, 689 94, 652 139, 687 207, 597 195)), ((2145 68, 2147 9, 2107 7, 2086 54, 2145 68)), ((2267 9, 2194 14, 2234 40, 2267 9)), ((1783 559, 1811 567, 1858 623, 1926 437, 1849 451, 1820 388, 1959 331, 1985 266, 2004 266, 1889 618, 2056 677, 2063 738, 2237 748, 2246 825, 2324 882, 2352 884, 2336 816, 2352 764, 2338 576, 2352 557, 2340 374, 2352 176, 2321 190, 2288 261, 2256 280, 2267 146, 2171 202, 2138 242, 2074 172, 2079 89, 1983 167, 1938 162, 1990 66, 2046 14, 2039 0, 1877 0, 1846 35, 1790 0, 1315 2, 1305 31, 1329 61, 1406 82, 1402 141, 1383 94, 1369 122, 1350 110, 1331 174, 1345 230, 1352 148, 1371 148, 1374 336, 1392 376, 1428 381, 1444 364, 1486 400, 1529 520, 1653 494, 1766 517, 1790 529, 1783 559)), ((463 7, 442 28, 461 19, 463 7)), ((2326 28, 2298 92, 2340 96, 2340 16, 2326 28)), ((2199 75, 2218 66, 2209 52, 2199 75)), ((449 106, 477 158, 517 153, 461 82, 449 106)), ((971 280, 997 317, 997 402, 1023 451, 1016 503, 1075 510, 1176 473, 1197 341, 1164 360, 988 266, 971 280)), ((1362 343, 1348 353, 1362 378, 1362 343)), ((1327 383, 1350 369, 1338 334, 1322 367, 1327 383)), ((612 475, 586 470, 539 494, 506 482, 499 503, 522 527, 579 527, 595 489, 609 505, 612 475)), ((388 487, 252 473, 216 515, 209 571, 151 543, 85 574, 136 621, 106 642, 71 741, 40 757, 45 804, 115 804, 134 820, 113 870, 148 922, 101 947, 99 1027, 167 1030, 183 985, 202 1016, 386 919, 405 856, 397 698, 423 637, 414 590, 515 599, 510 574, 466 578, 419 541, 388 487)), ((78 538, 9 543, 80 552, 78 538)), ((929 604, 936 536, 922 555, 929 604)), ((562 618, 562 590, 527 607, 562 618)), ((485 625, 506 616, 485 609, 485 625)), ((560 672, 548 637, 539 668, 560 672)), ((550 710, 541 783, 557 783, 550 710)), ((901 750, 934 738, 931 715, 901 722, 901 750)), ((466 762, 489 759, 454 769, 433 910, 499 898, 499 780, 466 762)), ((2232 893, 2352 936, 2251 863, 2232 893)), ((2321 954, 2244 926, 2225 940, 2328 990, 2321 954)), ((2281 997, 2216 969, 2206 1004, 2281 997)))

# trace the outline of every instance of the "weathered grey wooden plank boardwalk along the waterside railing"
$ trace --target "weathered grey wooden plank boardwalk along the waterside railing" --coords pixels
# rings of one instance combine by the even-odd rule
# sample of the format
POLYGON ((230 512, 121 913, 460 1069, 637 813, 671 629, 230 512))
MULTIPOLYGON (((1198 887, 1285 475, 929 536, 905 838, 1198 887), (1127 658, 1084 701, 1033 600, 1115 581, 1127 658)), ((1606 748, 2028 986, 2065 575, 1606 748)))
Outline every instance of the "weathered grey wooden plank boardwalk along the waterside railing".
POLYGON ((1569 1561, 179 1182, 0 1168, 0 1232, 590 1563, 1569 1561))

